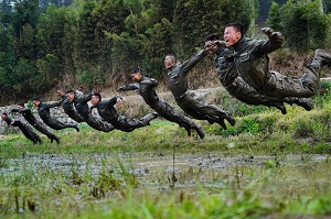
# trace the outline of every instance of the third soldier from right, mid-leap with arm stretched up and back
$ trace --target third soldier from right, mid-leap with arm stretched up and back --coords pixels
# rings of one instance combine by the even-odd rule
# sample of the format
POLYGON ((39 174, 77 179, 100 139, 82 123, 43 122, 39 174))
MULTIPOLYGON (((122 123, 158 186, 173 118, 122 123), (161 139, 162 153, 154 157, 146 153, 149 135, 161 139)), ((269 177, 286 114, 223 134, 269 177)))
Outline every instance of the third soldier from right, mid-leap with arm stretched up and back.
POLYGON ((207 120, 211 124, 216 122, 223 127, 223 129, 226 129, 224 119, 232 125, 235 124, 235 119, 223 109, 205 102, 188 88, 189 70, 206 55, 207 53, 202 50, 182 64, 177 63, 174 55, 167 55, 164 58, 164 67, 169 70, 168 87, 174 96, 175 102, 184 112, 194 119, 207 120))

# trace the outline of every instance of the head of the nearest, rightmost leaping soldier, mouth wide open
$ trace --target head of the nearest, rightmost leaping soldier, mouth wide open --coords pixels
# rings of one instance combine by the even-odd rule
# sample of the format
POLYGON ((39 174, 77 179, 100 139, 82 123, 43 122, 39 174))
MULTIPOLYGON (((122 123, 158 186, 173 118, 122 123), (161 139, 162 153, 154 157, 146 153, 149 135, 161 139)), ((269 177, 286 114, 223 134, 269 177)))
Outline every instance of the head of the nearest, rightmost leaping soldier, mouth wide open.
POLYGON ((243 25, 237 22, 228 23, 224 30, 224 41, 226 47, 231 47, 236 44, 243 37, 243 25))

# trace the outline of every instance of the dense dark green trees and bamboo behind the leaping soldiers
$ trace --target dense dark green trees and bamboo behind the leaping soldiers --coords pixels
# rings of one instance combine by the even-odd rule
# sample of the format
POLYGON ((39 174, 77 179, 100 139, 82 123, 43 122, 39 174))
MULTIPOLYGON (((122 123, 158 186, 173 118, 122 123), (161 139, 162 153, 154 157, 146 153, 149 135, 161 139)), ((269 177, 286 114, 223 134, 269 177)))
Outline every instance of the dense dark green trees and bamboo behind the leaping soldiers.
MULTIPOLYGON (((331 47, 330 10, 331 0, 2 0, 0 103, 51 97, 58 86, 115 90, 137 66, 162 81, 166 54, 189 58, 232 21, 250 37, 271 26, 286 48, 311 54, 331 47)), ((213 69, 212 58, 199 69, 213 69)))

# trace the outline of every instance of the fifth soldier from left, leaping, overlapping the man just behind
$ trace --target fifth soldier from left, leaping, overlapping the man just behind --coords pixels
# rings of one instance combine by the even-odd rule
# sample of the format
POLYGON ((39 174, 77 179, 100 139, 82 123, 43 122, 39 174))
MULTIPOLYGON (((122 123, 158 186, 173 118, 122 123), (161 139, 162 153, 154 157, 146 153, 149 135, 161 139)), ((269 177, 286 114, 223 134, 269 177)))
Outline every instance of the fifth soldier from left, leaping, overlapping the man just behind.
MULTIPOLYGON (((79 92, 79 91, 78 91, 79 92)), ((113 124, 104 121, 99 116, 93 116, 88 101, 92 99, 92 95, 94 91, 89 92, 88 95, 79 95, 75 90, 68 90, 66 92, 68 102, 72 102, 79 113, 79 116, 84 119, 84 121, 95 130, 103 131, 103 132, 110 132, 115 128, 113 124)))

